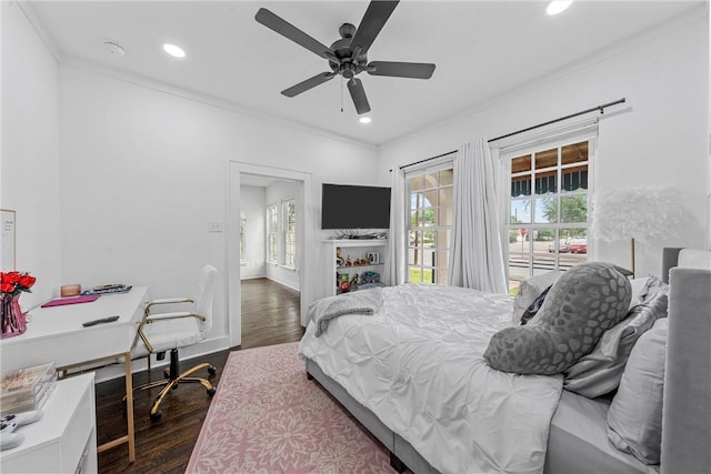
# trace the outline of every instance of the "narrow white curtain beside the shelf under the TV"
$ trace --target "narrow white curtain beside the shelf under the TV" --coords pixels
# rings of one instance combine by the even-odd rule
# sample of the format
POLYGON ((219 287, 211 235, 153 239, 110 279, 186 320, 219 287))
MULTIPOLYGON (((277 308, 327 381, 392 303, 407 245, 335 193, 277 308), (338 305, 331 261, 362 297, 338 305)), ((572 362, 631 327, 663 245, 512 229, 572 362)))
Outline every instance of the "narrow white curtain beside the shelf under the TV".
POLYGON ((404 283, 408 229, 405 226, 405 180, 399 167, 392 170, 390 191, 390 240, 388 241, 388 264, 385 281, 391 285, 404 283))

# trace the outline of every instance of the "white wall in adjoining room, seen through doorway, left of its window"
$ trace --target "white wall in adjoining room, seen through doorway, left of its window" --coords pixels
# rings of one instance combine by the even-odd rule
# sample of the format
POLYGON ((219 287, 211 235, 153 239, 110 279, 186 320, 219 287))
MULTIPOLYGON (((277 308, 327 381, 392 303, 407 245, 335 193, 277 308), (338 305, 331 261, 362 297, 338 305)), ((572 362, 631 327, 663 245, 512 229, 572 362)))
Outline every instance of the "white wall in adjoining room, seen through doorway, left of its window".
POLYGON ((240 280, 267 276, 264 198, 266 188, 240 186, 240 212, 247 219, 244 260, 241 262, 240 280))

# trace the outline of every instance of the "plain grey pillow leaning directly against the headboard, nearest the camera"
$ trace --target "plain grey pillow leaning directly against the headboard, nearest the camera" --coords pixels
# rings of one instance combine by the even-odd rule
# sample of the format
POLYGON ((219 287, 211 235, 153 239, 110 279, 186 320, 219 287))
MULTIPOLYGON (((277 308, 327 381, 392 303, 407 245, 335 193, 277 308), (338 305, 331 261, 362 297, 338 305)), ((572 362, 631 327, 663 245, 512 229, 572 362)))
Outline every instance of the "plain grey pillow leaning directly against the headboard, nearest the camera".
POLYGON ((665 357, 667 317, 662 317, 634 344, 608 411, 608 438, 644 464, 659 464, 665 357))

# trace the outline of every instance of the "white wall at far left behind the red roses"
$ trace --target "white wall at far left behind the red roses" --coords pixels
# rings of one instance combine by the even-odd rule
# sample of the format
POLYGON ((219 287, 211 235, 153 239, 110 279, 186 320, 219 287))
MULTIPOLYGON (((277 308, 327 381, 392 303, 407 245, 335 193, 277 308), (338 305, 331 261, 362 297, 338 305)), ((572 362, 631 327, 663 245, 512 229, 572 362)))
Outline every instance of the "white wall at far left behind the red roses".
MULTIPOLYGON (((24 310, 61 283, 58 67, 16 2, 2 14, 0 208, 17 212, 17 270, 37 278, 24 310)), ((9 269, 2 269, 9 270, 9 269)))

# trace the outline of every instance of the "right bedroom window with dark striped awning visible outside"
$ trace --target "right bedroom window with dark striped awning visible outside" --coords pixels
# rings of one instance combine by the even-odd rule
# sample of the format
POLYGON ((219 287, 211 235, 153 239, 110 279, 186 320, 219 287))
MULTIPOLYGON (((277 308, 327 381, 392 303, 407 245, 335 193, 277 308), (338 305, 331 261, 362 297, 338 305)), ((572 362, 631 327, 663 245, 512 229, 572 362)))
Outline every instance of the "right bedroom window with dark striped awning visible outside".
POLYGON ((509 288, 584 262, 591 141, 511 158, 509 288))

